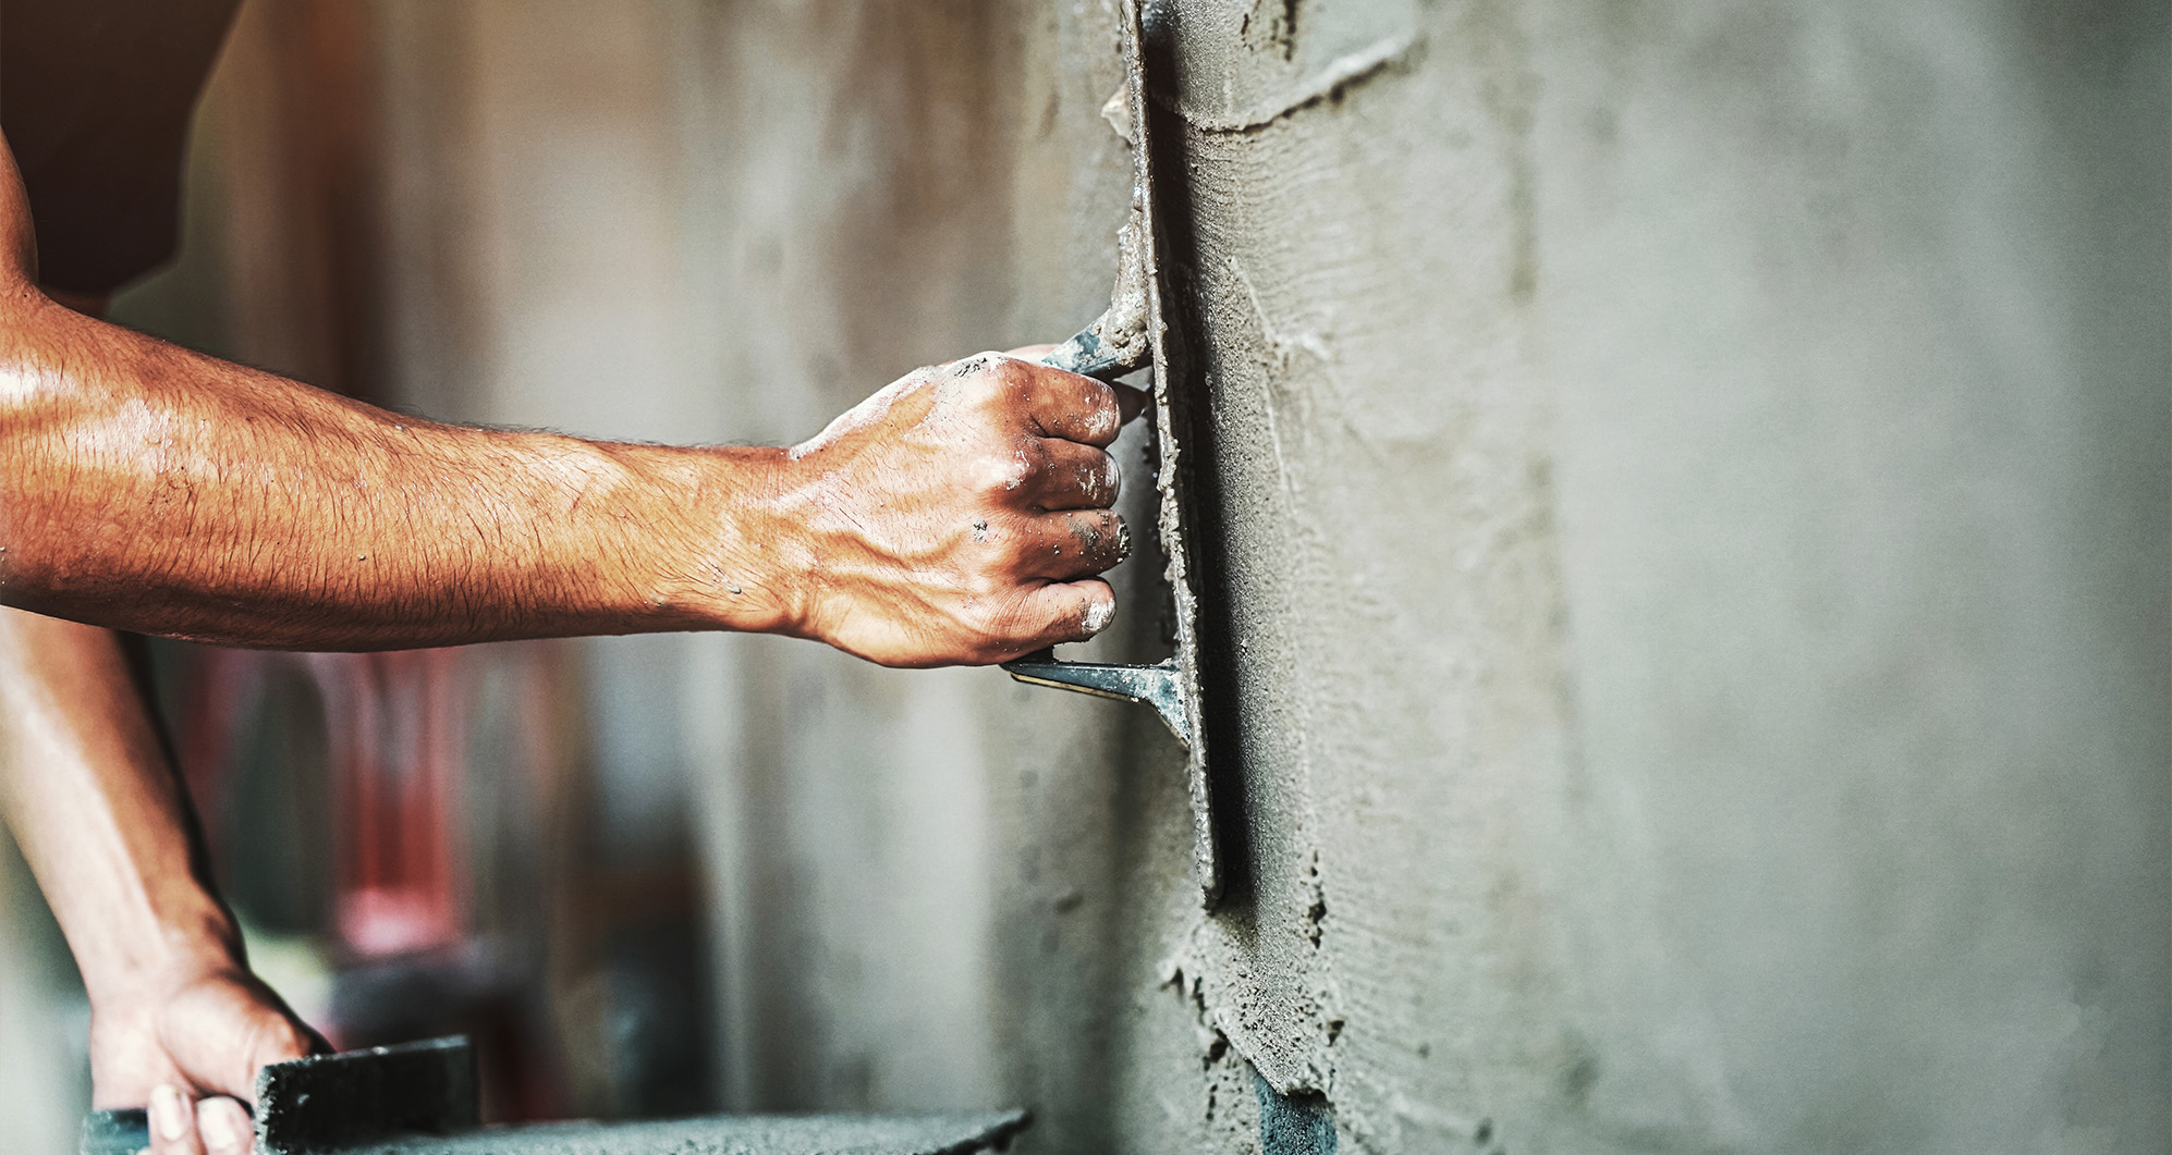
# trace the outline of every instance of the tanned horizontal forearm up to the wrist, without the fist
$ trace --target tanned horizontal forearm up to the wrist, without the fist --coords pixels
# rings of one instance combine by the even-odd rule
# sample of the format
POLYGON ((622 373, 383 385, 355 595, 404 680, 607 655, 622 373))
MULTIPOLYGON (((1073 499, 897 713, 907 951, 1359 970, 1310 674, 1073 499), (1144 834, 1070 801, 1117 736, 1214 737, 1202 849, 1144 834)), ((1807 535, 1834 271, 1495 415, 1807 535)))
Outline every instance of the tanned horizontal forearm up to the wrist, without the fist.
POLYGON ((7 310, 0 601, 308 649, 788 625, 775 449, 443 426, 7 310))

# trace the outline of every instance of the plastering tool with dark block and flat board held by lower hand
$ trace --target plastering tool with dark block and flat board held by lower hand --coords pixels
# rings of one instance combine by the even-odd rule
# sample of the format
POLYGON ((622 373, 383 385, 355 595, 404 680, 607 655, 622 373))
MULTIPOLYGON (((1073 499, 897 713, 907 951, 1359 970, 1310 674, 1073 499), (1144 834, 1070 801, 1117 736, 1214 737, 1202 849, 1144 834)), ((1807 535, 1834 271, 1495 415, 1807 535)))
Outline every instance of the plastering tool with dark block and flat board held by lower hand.
MULTIPOLYGON (((971 1155, 1025 1112, 956 1116, 708 1116, 478 1127, 476 1055, 434 1038, 256 1072, 256 1155, 971 1155)), ((141 1109, 91 1112, 83 1155, 150 1146, 141 1109)))

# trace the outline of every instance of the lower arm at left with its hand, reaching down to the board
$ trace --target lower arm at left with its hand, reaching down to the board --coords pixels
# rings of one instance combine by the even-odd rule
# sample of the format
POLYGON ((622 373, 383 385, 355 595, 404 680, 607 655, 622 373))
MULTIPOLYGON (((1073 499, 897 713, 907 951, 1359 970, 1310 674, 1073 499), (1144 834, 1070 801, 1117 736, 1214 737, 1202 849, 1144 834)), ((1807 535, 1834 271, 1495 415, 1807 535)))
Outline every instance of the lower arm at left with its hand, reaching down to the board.
POLYGON ((317 1040, 250 975, 109 630, 0 610, 0 810, 83 973, 93 1105, 150 1105, 159 1155, 241 1151, 256 1068, 317 1040))

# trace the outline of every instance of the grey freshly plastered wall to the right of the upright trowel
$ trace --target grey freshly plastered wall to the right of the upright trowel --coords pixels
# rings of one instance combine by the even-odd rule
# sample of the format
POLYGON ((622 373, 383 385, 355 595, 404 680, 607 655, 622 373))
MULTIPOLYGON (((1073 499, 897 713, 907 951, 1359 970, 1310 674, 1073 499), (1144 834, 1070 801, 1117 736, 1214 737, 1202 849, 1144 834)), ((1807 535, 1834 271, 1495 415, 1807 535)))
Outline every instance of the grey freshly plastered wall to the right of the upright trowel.
POLYGON ((1368 1151, 2161 1140, 2163 24, 1158 9, 1210 1070, 1368 1151))

